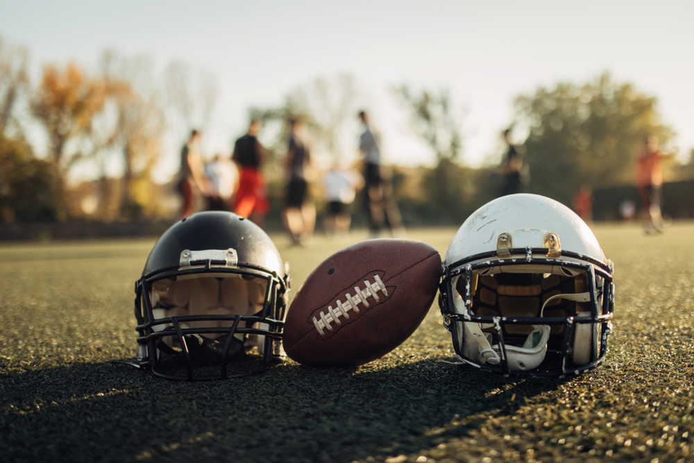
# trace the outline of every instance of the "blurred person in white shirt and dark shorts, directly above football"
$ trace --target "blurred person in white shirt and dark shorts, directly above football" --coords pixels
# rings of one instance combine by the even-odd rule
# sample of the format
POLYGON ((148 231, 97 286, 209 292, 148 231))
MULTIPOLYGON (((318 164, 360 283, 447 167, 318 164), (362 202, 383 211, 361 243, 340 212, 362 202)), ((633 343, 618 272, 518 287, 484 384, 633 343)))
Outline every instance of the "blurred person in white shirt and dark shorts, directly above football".
POLYGON ((325 213, 323 226, 325 235, 346 237, 352 222, 350 205, 354 202, 356 190, 364 186, 364 178, 354 169, 344 170, 335 161, 328 174, 323 177, 325 200, 328 211, 325 213))

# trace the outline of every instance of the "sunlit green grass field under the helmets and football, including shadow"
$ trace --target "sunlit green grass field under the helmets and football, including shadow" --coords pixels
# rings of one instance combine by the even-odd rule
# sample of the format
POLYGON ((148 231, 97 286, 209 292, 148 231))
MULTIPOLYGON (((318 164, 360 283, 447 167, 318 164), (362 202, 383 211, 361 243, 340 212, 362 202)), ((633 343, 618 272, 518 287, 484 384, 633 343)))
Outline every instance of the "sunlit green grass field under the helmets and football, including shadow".
MULTIPOLYGON (((409 237, 443 255, 454 232, 409 237)), ((437 307, 358 369, 161 380, 112 362, 135 356, 153 239, 2 244, 0 462, 693 461, 694 223, 595 233, 616 264, 614 332, 602 367, 572 380, 437 364, 452 356, 437 307)), ((275 238, 295 291, 348 244, 275 238)))

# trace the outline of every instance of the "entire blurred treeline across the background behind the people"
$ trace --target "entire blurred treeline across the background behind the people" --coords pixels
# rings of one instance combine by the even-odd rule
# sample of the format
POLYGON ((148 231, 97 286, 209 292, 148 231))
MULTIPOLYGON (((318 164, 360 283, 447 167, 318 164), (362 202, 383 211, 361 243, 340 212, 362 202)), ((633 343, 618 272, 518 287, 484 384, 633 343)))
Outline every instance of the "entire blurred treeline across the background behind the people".
MULTIPOLYGON (((357 130, 355 93, 353 79, 339 76, 290 92, 274 108, 249 108, 249 115, 275 126, 266 172, 271 214, 278 216, 282 204, 278 159, 287 119, 305 117, 321 149, 342 158, 341 139, 355 140, 357 135, 349 133, 357 130)), ((502 144, 490 165, 466 167, 464 124, 445 90, 403 85, 392 94, 437 160, 433 167, 392 167, 393 192, 405 224, 460 224, 498 196, 503 179, 495 172, 502 162, 502 144)), ((158 185, 153 167, 162 155, 178 156, 178 151, 164 153, 167 134, 176 133, 182 142, 194 125, 204 130, 216 99, 217 85, 210 74, 180 62, 158 73, 152 60, 124 58, 114 51, 103 54, 92 74, 74 62, 44 65, 40 81, 32 83, 26 50, 0 37, 0 222, 176 217, 177 179, 158 185), (28 130, 38 126, 47 140, 41 156, 28 130), (117 178, 110 164, 114 156, 122 171, 117 178), (70 185, 70 172, 83 162, 98 167, 94 180, 70 185)), ((514 104, 516 116, 509 126, 525 144, 531 179, 527 192, 567 205, 582 185, 594 191, 630 185, 634 158, 648 135, 658 135, 666 153, 677 153, 670 143, 675 134, 661 121, 657 99, 613 81, 609 74, 587 83, 541 87, 518 96, 514 104)), ((396 159, 397 153, 388 157, 396 159)), ((665 176, 666 181, 694 178, 694 150, 686 162, 668 159, 665 176)), ((269 223, 274 221, 269 217, 269 223)), ((355 224, 360 221, 357 214, 355 224)))

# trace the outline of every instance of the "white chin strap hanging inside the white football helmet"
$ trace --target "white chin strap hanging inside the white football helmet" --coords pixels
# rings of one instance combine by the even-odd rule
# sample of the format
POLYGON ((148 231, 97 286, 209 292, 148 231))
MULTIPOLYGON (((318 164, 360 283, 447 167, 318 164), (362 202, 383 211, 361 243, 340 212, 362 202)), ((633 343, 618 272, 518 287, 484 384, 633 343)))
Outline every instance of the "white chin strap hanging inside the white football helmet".
MULTIPOLYGON (((554 299, 568 299, 569 301, 589 302, 591 301, 590 292, 577 294, 556 294, 547 298, 540 310, 540 317, 543 316, 545 306, 548 302, 554 299)), ((456 301, 458 302, 458 301, 456 301)), ((462 299, 459 301, 462 302, 462 299)), ((477 346, 480 349, 478 360, 482 363, 498 365, 501 363, 500 353, 501 347, 498 344, 493 346, 490 344, 491 333, 482 332, 480 323, 466 322, 465 328, 470 332, 477 346)), ((509 369, 513 371, 532 370, 545 360, 547 353, 547 343, 550 339, 550 326, 548 325, 533 325, 533 330, 527 336, 522 347, 505 345, 507 355, 507 363, 509 369)))

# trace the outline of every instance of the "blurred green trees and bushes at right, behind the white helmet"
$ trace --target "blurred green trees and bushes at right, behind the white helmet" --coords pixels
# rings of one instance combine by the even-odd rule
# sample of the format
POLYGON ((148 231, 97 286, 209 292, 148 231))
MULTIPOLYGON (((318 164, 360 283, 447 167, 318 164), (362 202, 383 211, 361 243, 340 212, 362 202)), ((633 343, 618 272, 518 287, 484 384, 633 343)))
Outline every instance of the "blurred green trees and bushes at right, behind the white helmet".
MULTIPOLYGON (((457 162, 461 124, 451 123, 451 103, 445 92, 413 96, 402 87, 398 93, 438 158, 436 167, 419 169, 421 176, 407 171, 396 176, 403 216, 414 223, 459 224, 500 194, 503 179, 496 175, 495 166, 472 169, 457 162)), ((518 96, 514 106, 516 115, 509 127, 527 133, 522 142, 530 168, 525 192, 549 196, 570 207, 575 192, 588 186, 594 192, 595 219, 618 219, 622 201, 641 206, 634 186, 634 161, 645 138, 657 135, 661 151, 675 155, 664 165, 666 183, 677 183, 677 187, 665 185, 665 211, 673 217, 694 214, 694 149, 685 162, 678 160, 677 147, 671 144, 675 133, 661 121, 655 96, 603 74, 587 83, 540 87, 534 94, 518 96), (682 194, 686 190, 690 194, 682 194)))

